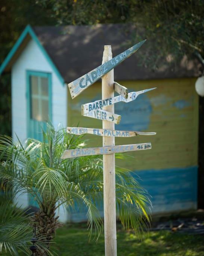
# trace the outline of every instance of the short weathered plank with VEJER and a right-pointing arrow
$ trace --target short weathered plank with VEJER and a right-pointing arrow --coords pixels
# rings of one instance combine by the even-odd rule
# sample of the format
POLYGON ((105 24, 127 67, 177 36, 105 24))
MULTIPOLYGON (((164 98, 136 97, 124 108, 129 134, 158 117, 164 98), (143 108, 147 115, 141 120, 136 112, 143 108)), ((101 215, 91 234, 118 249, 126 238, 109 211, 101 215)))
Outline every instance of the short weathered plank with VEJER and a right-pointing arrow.
POLYGON ((109 122, 113 122, 115 124, 119 124, 121 120, 121 115, 113 114, 111 112, 108 112, 102 109, 90 111, 84 114, 84 117, 92 117, 100 120, 106 120, 109 122))

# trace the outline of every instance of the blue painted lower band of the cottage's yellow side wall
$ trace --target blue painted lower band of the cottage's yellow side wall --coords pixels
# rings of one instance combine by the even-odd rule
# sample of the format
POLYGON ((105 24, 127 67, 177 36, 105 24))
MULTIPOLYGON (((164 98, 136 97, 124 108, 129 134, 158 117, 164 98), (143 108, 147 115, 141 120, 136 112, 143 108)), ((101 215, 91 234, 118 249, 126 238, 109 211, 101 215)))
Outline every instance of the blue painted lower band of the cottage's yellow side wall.
MULTIPOLYGON (((153 214, 197 209, 197 166, 134 171, 132 175, 148 191, 153 214)), ((102 209, 101 207, 101 216, 102 209)), ((81 211, 70 211, 68 221, 84 221, 87 218, 86 214, 86 208, 81 211)))

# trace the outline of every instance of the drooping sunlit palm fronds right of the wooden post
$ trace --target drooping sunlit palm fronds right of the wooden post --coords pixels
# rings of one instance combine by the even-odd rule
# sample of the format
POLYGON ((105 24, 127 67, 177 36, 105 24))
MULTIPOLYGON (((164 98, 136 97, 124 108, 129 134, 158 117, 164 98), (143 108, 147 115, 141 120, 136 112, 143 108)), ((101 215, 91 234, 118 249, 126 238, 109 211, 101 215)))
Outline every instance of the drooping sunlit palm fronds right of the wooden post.
POLYGON ((149 197, 129 170, 116 168, 117 216, 124 228, 134 229, 139 238, 150 221, 152 204, 149 197))

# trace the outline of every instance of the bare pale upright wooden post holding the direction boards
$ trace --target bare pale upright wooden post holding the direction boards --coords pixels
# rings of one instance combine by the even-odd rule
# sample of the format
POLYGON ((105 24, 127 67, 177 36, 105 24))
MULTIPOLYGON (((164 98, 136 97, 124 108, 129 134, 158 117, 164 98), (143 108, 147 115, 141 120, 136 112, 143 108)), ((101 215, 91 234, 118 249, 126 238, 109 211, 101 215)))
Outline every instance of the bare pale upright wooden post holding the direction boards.
MULTIPOLYGON (((105 45, 102 64, 112 59, 111 45, 105 45)), ((114 97, 114 69, 102 77, 102 99, 114 97)), ((114 113, 114 105, 103 110, 114 113)), ((115 124, 102 121, 103 129, 114 130, 115 124)), ((114 137, 103 136, 103 147, 114 146, 114 137)), ((117 256, 116 205, 115 205, 115 154, 103 155, 103 204, 105 256, 117 256)))

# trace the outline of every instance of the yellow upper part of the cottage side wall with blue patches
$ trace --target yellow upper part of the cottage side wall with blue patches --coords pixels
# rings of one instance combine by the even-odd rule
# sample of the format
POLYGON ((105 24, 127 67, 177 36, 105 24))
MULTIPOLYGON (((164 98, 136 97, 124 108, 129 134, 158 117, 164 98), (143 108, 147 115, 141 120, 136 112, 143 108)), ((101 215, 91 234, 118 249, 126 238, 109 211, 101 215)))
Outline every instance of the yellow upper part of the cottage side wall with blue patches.
MULTIPOLYGON (((157 135, 115 138, 115 145, 152 142, 151 150, 129 153, 134 158, 117 160, 117 165, 131 170, 197 165, 198 96, 194 89, 195 78, 118 82, 129 92, 157 87, 131 103, 115 104, 115 113, 121 114, 121 125, 130 121, 136 126, 127 124, 127 127, 133 130, 137 123, 143 126, 145 122, 146 129, 142 131, 157 132, 157 135), (123 105, 117 107, 117 104, 123 105), (147 118, 146 113, 149 113, 147 118), (129 116, 131 120, 128 120, 129 116)), ((101 82, 96 82, 73 100, 68 92, 68 125, 77 126, 79 123, 80 127, 102 128, 101 120, 81 116, 81 104, 99 99, 101 82)), ((115 129, 119 127, 115 124, 115 129)), ((100 136, 85 135, 84 138, 90 139, 87 147, 102 146, 100 136)))

